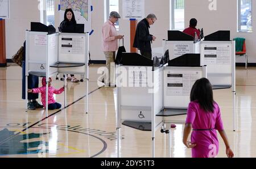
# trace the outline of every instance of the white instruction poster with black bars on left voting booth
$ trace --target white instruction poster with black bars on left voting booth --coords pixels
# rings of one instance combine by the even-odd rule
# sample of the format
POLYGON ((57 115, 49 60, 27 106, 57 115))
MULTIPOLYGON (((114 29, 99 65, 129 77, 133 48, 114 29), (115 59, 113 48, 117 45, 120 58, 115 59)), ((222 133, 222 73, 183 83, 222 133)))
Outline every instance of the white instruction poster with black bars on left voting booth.
POLYGON ((61 54, 84 54, 85 39, 84 37, 63 36, 60 39, 61 54))

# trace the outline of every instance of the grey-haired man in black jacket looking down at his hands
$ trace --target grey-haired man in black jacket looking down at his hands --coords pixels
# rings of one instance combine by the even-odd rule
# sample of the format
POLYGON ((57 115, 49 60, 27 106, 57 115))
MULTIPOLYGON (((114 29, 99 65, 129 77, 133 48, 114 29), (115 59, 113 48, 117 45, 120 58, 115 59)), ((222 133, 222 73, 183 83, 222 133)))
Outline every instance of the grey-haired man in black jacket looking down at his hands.
POLYGON ((151 42, 156 40, 156 37, 150 35, 149 29, 151 24, 156 22, 154 14, 147 15, 147 18, 138 23, 134 39, 134 48, 141 50, 141 54, 147 58, 152 58, 151 42))

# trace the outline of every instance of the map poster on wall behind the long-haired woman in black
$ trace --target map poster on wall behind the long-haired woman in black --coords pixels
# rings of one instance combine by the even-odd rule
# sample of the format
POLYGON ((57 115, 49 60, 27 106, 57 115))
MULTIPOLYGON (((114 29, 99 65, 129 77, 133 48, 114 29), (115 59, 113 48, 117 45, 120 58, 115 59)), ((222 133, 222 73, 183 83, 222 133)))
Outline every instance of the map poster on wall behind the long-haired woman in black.
POLYGON ((85 32, 92 31, 92 0, 60 0, 60 23, 64 20, 66 9, 74 11, 76 22, 84 24, 85 32))

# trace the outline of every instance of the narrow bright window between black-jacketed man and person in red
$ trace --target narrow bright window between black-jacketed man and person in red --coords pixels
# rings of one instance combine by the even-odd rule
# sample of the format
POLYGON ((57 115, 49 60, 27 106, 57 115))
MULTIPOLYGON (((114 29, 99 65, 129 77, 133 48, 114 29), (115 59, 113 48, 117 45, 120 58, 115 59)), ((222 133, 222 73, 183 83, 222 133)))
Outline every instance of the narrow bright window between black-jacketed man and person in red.
POLYGON ((184 0, 170 0, 171 29, 184 29, 184 0))

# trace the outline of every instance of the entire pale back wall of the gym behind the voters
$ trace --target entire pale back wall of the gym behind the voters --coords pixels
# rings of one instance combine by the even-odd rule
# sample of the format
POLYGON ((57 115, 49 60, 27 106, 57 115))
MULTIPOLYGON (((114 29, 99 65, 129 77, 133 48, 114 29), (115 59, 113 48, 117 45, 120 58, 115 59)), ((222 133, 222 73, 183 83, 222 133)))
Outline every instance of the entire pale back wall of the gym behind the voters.
MULTIPOLYGON (((238 33, 237 32, 237 1, 236 0, 217 0, 217 11, 210 11, 209 1, 207 0, 185 0, 185 27, 188 26, 191 18, 198 20, 198 28, 204 28, 204 35, 216 32, 218 30, 230 30, 231 38, 245 37, 249 62, 256 63, 256 33, 238 33)), ((6 45, 7 58, 19 49, 24 41, 24 30, 30 29, 30 22, 40 21, 40 12, 38 10, 38 1, 35 0, 11 0, 11 19, 6 20, 6 45)), ((59 26, 59 12, 57 11, 59 0, 55 1, 55 28, 59 26)), ((101 49, 102 37, 101 28, 104 24, 104 0, 93 0, 92 28, 94 33, 90 36, 90 53, 92 60, 105 60, 101 49)), ((253 9, 256 9, 256 3, 253 3, 253 9)), ((119 13, 122 16, 122 0, 119 0, 119 13)), ((152 44, 152 48, 162 47, 162 39, 167 38, 167 31, 170 28, 170 1, 146 0, 145 15, 154 13, 158 20, 150 28, 150 33, 157 37, 152 44)), ((256 23, 256 17, 253 16, 253 23, 256 23)), ((119 20, 119 33, 125 35, 125 47, 130 51, 130 21, 119 20)), ((253 30, 255 30, 254 27, 253 30)))

